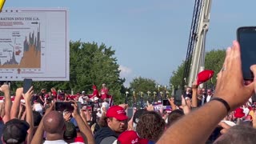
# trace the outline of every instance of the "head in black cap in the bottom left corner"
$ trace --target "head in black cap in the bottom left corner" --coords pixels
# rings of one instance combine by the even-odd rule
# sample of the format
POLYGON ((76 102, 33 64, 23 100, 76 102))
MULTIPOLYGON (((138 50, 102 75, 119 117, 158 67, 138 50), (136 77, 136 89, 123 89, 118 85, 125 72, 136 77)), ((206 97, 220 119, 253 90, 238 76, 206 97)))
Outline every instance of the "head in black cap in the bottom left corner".
POLYGON ((29 129, 30 125, 26 121, 11 119, 3 127, 2 141, 6 144, 26 143, 26 131, 29 129))

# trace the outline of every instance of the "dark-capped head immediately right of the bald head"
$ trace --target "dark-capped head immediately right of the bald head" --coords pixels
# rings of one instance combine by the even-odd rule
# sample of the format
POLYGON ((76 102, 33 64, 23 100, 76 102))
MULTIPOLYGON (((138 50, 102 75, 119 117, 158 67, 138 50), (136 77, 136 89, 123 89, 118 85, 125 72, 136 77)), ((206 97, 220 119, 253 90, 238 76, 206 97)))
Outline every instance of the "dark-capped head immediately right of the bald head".
POLYGON ((63 138, 66 142, 71 143, 74 142, 74 138, 77 137, 76 127, 72 122, 65 122, 66 130, 63 134, 63 138))

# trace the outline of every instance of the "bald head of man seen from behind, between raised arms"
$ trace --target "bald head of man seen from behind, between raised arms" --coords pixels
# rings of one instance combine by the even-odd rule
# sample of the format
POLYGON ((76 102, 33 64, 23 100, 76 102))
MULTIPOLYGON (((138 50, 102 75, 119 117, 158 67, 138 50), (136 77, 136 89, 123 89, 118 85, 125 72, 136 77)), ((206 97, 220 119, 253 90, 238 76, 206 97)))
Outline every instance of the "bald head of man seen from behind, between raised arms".
POLYGON ((64 118, 58 111, 50 111, 50 113, 46 114, 45 118, 43 118, 43 126, 44 130, 49 134, 60 133, 65 126, 64 118))

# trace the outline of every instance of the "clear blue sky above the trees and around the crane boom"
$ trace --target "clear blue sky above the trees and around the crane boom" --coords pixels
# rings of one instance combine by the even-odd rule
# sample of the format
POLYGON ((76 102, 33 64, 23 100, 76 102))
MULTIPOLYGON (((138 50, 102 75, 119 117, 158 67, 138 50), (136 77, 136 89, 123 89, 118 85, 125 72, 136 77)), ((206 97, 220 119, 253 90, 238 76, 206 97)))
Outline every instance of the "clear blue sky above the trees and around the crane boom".
MULTIPOLYGON (((255 6, 253 0, 213 1, 206 50, 230 46, 239 26, 255 26, 255 6)), ((6 0, 7 7, 66 7, 70 40, 112 46, 126 86, 138 76, 169 85, 186 58, 194 0, 6 0)))

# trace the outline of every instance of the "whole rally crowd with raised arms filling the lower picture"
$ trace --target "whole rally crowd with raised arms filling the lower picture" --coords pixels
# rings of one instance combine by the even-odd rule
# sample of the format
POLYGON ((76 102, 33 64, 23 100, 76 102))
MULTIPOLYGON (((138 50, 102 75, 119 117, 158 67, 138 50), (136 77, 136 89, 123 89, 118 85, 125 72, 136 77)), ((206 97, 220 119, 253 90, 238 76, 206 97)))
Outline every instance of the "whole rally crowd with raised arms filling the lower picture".
MULTIPOLYGON (((256 75, 256 65, 251 66, 256 75)), ((256 115, 252 95, 256 82, 244 82, 238 42, 226 50, 215 90, 186 88, 182 105, 170 98, 171 112, 152 104, 127 116, 126 104, 112 106, 106 85, 98 93, 69 98, 54 88, 34 95, 33 86, 16 90, 11 102, 9 86, 2 85, 2 143, 255 143, 256 115), (24 98, 25 102, 21 102, 24 98), (56 103, 70 102, 73 109, 57 110, 56 103)))

